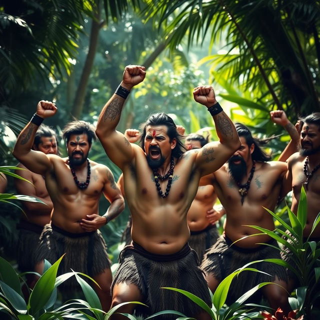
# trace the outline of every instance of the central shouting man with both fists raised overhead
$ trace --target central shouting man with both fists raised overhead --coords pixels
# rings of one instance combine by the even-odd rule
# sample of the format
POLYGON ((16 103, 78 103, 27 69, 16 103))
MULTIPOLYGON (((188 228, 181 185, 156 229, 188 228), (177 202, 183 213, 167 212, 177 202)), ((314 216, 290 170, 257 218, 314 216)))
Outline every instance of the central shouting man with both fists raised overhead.
MULTIPOLYGON (((191 300, 160 287, 187 290, 211 305, 195 252, 187 245, 190 231, 186 214, 200 176, 218 169, 239 147, 239 138, 233 123, 216 102, 212 87, 199 86, 193 91, 194 99, 207 106, 213 115, 219 141, 184 153, 173 120, 157 113, 145 122, 142 147, 129 143, 115 127, 129 90, 144 77, 143 66, 125 67, 122 82, 103 107, 96 128, 107 155, 123 172, 132 215, 132 245, 120 253, 120 265, 112 282, 112 307, 126 301, 143 301, 148 308, 138 311, 136 307, 138 314, 174 309, 198 320, 210 319, 191 300)), ((132 313, 133 308, 133 304, 126 304, 118 310, 132 313)), ((176 316, 166 314, 164 318, 176 316)))

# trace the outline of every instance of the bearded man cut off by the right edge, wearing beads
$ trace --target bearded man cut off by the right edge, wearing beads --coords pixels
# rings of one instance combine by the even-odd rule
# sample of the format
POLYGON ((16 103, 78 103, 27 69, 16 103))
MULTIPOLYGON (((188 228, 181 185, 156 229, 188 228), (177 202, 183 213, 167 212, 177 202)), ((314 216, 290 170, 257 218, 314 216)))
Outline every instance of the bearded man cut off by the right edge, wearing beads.
MULTIPOLYGON (((320 243, 320 224, 311 233, 313 222, 320 211, 320 112, 314 112, 301 119, 300 151, 288 158, 288 174, 292 179, 291 210, 297 213, 301 186, 304 186, 307 200, 306 225, 303 229, 304 240, 320 243)), ((285 258, 287 259, 287 258, 285 258)), ((295 278, 289 272, 290 287, 295 278)))

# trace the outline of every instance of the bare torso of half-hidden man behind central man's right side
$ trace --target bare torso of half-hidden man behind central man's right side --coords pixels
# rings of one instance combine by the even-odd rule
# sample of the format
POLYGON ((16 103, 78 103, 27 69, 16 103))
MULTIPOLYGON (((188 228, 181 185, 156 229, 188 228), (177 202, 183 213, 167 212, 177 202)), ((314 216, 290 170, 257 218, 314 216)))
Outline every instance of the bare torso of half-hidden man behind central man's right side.
POLYGON ((203 230, 210 224, 205 215, 208 210, 212 209, 216 201, 216 194, 213 185, 206 183, 205 177, 201 177, 195 198, 188 210, 187 222, 190 231, 203 230))

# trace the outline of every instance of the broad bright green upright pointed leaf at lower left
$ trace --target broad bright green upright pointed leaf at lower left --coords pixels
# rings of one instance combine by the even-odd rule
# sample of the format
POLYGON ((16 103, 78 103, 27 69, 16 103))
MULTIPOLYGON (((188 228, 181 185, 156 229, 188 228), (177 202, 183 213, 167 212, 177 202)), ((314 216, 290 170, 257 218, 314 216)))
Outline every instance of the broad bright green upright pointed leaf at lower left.
POLYGON ((64 254, 54 262, 53 265, 46 270, 35 283, 28 302, 28 309, 31 314, 34 314, 36 311, 43 308, 49 300, 54 288, 58 266, 63 256, 64 254))

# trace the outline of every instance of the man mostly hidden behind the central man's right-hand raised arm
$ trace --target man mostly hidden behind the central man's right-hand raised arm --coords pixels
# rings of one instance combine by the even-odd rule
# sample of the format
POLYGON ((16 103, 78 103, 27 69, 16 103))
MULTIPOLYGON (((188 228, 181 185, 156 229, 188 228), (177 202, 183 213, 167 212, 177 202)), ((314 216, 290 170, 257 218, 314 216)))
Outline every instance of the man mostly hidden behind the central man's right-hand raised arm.
MULTIPOLYGON (((201 148, 206 143, 208 139, 203 135, 191 133, 187 135, 184 145, 187 150, 193 150, 201 148)), ((186 216, 190 229, 188 243, 197 253, 200 263, 205 250, 211 247, 219 237, 216 222, 223 213, 223 210, 213 209, 217 196, 210 183, 211 174, 200 178, 198 190, 186 216)))

